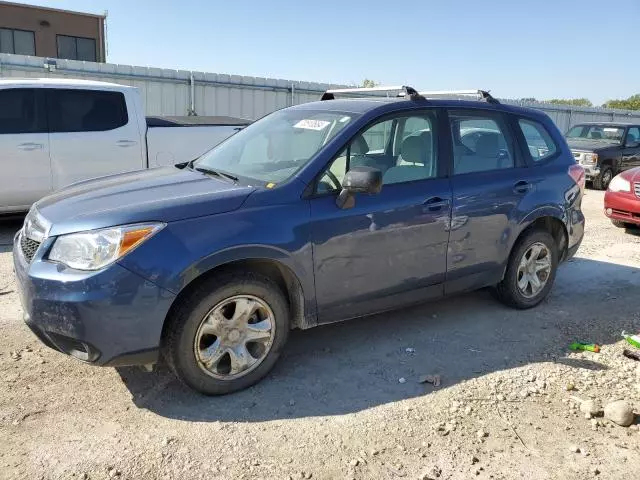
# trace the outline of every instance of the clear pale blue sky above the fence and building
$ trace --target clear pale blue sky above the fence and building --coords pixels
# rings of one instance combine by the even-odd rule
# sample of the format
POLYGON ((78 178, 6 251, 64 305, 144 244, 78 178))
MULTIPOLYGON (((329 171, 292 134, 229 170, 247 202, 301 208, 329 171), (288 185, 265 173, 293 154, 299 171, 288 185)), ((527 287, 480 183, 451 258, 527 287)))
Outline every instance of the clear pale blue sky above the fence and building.
POLYGON ((640 93, 640 0, 24 3, 108 11, 110 63, 596 105, 640 93))

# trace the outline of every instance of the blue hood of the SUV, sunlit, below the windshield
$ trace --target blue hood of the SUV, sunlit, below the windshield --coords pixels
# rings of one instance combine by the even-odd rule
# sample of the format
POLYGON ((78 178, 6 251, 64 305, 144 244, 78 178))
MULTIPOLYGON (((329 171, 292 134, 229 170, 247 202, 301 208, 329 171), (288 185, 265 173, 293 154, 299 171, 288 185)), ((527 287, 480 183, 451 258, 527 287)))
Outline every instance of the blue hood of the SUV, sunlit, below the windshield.
POLYGON ((76 183, 35 204, 49 235, 136 222, 172 222, 239 208, 255 187, 176 167, 76 183))

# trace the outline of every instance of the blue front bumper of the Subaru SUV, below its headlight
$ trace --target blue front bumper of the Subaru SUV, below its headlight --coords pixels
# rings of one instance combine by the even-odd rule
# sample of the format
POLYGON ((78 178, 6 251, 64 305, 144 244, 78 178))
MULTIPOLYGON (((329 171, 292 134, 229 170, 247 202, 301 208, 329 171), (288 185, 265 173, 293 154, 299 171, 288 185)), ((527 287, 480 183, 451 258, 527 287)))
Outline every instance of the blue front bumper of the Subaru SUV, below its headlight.
POLYGON ((175 295, 119 264, 80 272, 42 259, 28 262, 16 235, 13 262, 24 320, 47 346, 95 365, 158 359, 162 326, 175 295))

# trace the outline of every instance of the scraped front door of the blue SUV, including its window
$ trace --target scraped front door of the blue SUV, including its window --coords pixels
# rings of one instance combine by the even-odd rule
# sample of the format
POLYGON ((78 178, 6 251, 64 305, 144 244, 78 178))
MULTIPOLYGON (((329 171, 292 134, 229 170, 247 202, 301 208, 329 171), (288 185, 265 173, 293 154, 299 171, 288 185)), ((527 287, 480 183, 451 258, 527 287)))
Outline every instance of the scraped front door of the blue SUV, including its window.
POLYGON ((435 111, 386 118, 357 135, 319 179, 310 207, 321 323, 443 294, 451 189, 437 131, 435 111), (383 187, 340 209, 336 195, 350 165, 383 170, 383 187))

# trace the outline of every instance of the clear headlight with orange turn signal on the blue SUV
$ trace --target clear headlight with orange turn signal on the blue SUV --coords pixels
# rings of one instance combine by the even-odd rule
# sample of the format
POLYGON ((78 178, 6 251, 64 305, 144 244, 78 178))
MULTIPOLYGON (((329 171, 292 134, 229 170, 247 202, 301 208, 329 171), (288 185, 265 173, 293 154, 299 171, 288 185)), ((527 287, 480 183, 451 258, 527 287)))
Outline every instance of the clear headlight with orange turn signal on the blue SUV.
POLYGON ((164 226, 164 223, 143 223, 61 235, 48 258, 77 270, 99 270, 126 255, 164 226))

